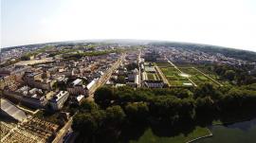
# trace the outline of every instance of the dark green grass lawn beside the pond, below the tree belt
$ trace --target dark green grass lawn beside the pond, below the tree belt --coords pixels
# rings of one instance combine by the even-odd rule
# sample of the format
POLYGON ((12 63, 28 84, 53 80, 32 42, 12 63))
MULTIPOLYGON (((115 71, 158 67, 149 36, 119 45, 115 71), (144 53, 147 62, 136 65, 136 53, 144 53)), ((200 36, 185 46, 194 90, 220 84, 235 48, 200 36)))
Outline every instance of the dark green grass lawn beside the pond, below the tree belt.
POLYGON ((177 134, 175 136, 157 136, 151 129, 147 129, 145 133, 137 140, 131 140, 130 143, 185 143, 200 136, 209 135, 208 128, 195 127, 189 134, 177 134))

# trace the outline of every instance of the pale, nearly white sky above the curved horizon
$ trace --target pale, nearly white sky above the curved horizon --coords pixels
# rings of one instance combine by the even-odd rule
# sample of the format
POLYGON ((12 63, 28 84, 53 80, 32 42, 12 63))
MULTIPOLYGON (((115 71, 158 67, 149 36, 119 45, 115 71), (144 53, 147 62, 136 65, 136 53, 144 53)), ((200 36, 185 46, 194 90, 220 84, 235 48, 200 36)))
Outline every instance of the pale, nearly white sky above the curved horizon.
POLYGON ((87 39, 256 51, 256 0, 1 0, 1 47, 87 39))

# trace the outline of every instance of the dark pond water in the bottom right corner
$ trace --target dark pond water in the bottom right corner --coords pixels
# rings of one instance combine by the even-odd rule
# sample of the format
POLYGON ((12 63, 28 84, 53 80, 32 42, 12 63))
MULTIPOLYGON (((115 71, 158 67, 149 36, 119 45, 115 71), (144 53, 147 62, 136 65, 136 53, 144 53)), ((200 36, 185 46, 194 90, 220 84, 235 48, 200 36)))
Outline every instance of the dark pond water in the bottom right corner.
POLYGON ((200 139, 195 143, 255 143, 256 118, 228 125, 210 127, 213 136, 200 139))

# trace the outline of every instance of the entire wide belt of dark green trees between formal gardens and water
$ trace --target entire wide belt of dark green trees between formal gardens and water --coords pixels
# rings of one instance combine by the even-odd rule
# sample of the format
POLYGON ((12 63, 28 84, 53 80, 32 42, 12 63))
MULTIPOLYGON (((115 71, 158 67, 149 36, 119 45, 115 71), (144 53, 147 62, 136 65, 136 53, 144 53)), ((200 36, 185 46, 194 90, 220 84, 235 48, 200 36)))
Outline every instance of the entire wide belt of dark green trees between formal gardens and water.
POLYGON ((255 87, 256 84, 215 87, 210 83, 173 89, 103 86, 95 93, 96 103, 82 103, 72 128, 82 133, 80 139, 90 142, 109 135, 112 137, 107 138, 113 139, 110 142, 115 142, 127 134, 131 138, 125 140, 137 140, 149 127, 159 136, 190 134, 216 120, 226 122, 251 115, 256 106, 255 87), (139 135, 132 135, 132 126, 137 126, 132 131, 139 135))

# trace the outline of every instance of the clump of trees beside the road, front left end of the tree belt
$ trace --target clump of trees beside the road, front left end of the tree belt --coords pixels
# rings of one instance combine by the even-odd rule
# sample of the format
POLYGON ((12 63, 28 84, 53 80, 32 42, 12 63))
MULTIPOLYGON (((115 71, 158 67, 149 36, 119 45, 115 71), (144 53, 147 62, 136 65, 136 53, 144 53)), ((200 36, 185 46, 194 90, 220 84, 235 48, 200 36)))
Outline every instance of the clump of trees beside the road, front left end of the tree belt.
POLYGON ((117 131, 125 119, 125 114, 119 105, 107 107, 105 110, 93 101, 84 101, 79 113, 74 116, 72 129, 80 132, 84 140, 91 140, 95 134, 104 131, 117 131))

